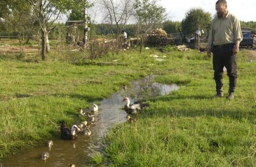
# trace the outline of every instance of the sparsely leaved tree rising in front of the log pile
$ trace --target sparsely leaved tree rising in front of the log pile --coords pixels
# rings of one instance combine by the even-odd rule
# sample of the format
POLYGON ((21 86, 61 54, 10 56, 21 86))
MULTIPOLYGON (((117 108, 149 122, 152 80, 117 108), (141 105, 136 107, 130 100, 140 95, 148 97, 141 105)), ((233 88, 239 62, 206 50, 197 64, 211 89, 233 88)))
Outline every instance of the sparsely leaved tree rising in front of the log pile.
POLYGON ((135 11, 138 26, 138 34, 141 37, 141 49, 144 39, 150 31, 157 28, 165 17, 165 8, 156 5, 156 1, 135 0, 135 11))

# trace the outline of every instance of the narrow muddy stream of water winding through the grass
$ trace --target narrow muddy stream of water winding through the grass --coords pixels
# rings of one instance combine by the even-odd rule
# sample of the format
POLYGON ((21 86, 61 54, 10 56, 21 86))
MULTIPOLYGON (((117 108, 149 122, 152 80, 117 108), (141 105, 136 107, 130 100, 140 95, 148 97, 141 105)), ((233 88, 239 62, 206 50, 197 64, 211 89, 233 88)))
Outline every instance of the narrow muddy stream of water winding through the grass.
POLYGON ((75 166, 89 165, 94 148, 93 143, 104 137, 107 130, 114 124, 120 124, 126 121, 126 112, 121 110, 124 106, 123 98, 128 96, 133 102, 134 99, 146 99, 149 97, 167 95, 168 93, 178 90, 176 84, 167 85, 153 83, 153 77, 146 77, 141 80, 133 81, 130 87, 114 93, 109 98, 100 102, 97 115, 98 121, 91 127, 92 135, 83 136, 78 134, 77 140, 53 139, 53 147, 49 150, 47 147, 35 147, 25 150, 24 153, 8 157, 2 166, 69 166, 74 163, 75 166), (50 157, 44 161, 40 155, 48 151, 50 157))

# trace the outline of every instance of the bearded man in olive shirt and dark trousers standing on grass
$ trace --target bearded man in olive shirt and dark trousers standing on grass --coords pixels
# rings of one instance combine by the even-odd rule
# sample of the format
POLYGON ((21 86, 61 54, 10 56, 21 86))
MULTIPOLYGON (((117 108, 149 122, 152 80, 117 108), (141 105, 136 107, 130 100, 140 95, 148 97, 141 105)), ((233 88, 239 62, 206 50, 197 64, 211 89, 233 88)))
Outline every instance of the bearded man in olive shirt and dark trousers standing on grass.
POLYGON ((223 68, 226 67, 229 77, 228 98, 234 99, 234 91, 237 83, 236 54, 239 51, 240 42, 243 40, 240 22, 227 10, 227 2, 216 2, 217 16, 214 17, 208 38, 207 55, 213 52, 214 80, 216 82, 216 96, 222 97, 223 68))

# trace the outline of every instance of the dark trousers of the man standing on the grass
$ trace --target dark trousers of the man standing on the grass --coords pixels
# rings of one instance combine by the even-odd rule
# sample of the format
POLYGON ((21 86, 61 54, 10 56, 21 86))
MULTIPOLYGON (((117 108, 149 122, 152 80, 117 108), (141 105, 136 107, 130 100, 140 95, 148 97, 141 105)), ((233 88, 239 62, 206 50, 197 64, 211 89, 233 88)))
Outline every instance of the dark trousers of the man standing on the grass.
POLYGON ((226 67, 229 77, 229 93, 235 91, 237 83, 237 63, 236 55, 233 54, 234 43, 213 46, 213 69, 214 80, 216 82, 216 92, 222 93, 223 68, 226 67))

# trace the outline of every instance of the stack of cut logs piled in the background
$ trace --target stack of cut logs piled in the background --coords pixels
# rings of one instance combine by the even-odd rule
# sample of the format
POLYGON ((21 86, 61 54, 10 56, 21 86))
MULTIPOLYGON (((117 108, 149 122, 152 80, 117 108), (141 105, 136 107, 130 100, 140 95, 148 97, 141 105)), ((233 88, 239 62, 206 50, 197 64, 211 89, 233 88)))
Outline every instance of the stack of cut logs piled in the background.
POLYGON ((150 32, 150 34, 147 36, 147 45, 151 46, 167 46, 170 44, 173 44, 174 37, 168 35, 164 30, 162 29, 156 29, 150 32))

